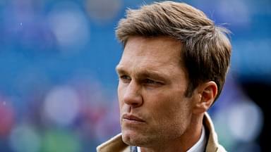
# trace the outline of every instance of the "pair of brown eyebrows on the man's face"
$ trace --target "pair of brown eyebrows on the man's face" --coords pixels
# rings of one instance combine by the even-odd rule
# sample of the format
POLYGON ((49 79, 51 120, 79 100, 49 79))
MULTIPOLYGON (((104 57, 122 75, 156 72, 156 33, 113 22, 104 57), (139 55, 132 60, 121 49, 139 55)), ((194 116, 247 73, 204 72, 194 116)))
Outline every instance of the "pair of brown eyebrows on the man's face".
MULTIPOLYGON (((128 72, 124 69, 123 66, 116 66, 116 72, 119 74, 127 75, 128 72)), ((167 81, 166 77, 169 77, 169 75, 161 72, 157 72, 155 70, 145 69, 140 70, 140 72, 136 73, 137 77, 153 77, 158 80, 167 81)))

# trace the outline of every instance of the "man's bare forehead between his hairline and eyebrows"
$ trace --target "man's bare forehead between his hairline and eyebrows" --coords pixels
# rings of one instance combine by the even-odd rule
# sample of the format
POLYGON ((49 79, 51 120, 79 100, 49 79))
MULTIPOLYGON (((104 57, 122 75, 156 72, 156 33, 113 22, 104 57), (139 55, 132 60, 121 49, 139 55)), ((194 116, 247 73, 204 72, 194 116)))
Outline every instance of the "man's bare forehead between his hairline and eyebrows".
POLYGON ((170 37, 131 37, 118 68, 170 72, 181 68, 181 42, 170 37))

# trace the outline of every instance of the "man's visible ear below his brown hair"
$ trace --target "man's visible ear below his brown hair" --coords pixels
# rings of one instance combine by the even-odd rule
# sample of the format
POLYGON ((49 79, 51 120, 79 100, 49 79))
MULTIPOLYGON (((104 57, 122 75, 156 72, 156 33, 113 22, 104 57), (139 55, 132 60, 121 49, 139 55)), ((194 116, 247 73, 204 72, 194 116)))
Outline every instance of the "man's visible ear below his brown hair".
POLYGON ((213 81, 200 84, 197 88, 195 106, 193 113, 199 114, 207 111, 217 96, 217 84, 213 81))

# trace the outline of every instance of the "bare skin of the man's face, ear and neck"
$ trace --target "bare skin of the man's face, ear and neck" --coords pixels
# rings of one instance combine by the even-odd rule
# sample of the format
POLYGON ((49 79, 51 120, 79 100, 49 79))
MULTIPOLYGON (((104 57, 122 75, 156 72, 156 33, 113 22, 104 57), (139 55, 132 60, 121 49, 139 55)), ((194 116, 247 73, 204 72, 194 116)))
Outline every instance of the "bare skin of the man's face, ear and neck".
POLYGON ((215 82, 205 82, 185 96, 180 48, 169 37, 130 37, 116 67, 122 139, 143 152, 191 148, 217 94, 215 82))

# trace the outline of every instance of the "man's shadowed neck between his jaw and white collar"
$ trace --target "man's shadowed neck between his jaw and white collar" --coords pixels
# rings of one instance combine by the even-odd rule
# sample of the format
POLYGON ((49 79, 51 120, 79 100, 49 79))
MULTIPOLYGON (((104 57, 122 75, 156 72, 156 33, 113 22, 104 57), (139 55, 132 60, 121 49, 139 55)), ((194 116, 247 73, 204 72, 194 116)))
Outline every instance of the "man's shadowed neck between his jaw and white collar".
POLYGON ((141 152, 188 151, 199 139, 203 127, 203 115, 193 115, 190 125, 181 137, 157 143, 155 146, 140 147, 141 152))

